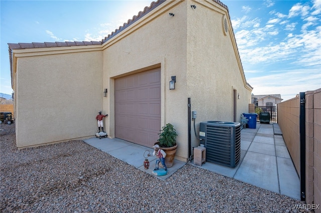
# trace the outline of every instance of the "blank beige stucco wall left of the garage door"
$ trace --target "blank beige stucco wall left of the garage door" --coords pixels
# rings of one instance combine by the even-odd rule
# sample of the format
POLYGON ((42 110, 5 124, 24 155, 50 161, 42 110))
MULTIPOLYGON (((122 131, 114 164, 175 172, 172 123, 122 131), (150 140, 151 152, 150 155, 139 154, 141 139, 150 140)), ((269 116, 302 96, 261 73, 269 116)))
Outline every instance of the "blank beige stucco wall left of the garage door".
POLYGON ((17 146, 93 135, 102 109, 102 52, 33 50, 16 54, 17 146))

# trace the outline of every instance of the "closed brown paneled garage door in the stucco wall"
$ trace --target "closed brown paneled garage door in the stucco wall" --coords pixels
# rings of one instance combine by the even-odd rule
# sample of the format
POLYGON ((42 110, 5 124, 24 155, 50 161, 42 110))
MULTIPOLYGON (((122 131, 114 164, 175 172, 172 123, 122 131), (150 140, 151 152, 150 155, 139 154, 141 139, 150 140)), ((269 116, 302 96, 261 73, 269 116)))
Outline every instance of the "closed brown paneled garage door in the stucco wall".
POLYGON ((161 129, 161 69, 115 79, 115 137, 152 146, 161 129))

